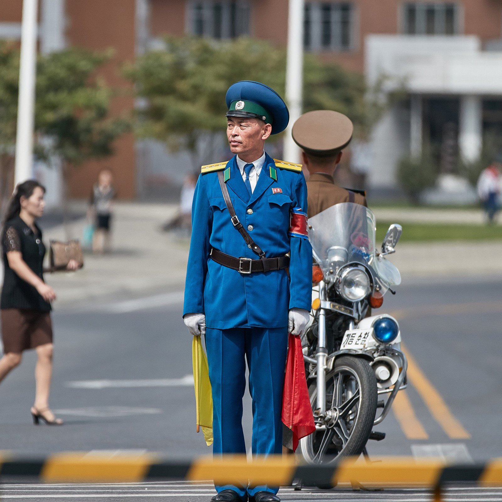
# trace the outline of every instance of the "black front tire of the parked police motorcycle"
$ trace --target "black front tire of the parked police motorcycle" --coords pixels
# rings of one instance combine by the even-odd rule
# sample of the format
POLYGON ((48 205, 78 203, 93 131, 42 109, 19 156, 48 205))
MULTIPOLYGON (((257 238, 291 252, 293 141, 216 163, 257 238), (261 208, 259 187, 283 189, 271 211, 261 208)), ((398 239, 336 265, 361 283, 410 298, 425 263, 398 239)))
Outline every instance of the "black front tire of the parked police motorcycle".
MULTIPOLYGON (((326 381, 328 382, 336 373, 341 371, 348 371, 354 375, 359 383, 360 393, 363 397, 359 402, 359 409, 357 418, 350 432, 349 439, 345 446, 336 455, 330 455, 329 460, 322 463, 334 463, 340 458, 348 456, 359 456, 369 439, 373 422, 376 415, 376 403, 378 401, 376 378, 369 363, 362 358, 352 356, 341 356, 336 358, 334 367, 331 371, 326 373, 326 381)), ((316 407, 316 384, 313 383, 309 387, 310 402, 312 409, 316 407)), ((319 433, 318 431, 313 434, 319 433)), ((311 435, 312 436, 312 435, 311 435)), ((313 438, 307 436, 300 440, 299 450, 305 461, 308 463, 313 462, 312 458, 315 456, 313 451, 313 438), (309 439, 310 438, 310 439, 309 439)))

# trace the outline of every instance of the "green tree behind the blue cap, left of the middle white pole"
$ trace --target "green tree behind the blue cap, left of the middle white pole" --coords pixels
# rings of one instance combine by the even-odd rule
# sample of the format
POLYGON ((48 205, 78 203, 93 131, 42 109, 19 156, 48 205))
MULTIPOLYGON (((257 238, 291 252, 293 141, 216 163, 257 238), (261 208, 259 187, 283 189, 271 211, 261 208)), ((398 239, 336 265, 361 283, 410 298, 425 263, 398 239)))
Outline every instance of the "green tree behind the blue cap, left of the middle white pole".
POLYGON ((282 89, 284 54, 263 41, 241 38, 216 43, 204 38, 166 39, 166 48, 139 58, 126 75, 145 98, 138 110, 137 134, 187 149, 194 167, 212 160, 215 136, 224 131, 222 98, 237 80, 260 80, 282 89), (199 158, 197 143, 208 135, 199 158))

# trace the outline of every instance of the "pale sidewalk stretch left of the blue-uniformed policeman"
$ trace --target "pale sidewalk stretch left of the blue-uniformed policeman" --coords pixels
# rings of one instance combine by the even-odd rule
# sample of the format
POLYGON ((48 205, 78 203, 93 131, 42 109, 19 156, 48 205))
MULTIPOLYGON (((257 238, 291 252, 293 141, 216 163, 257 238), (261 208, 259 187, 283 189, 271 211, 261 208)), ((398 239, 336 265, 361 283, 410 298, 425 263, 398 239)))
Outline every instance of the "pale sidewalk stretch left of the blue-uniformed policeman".
MULTIPOLYGON (((181 290, 185 282, 188 239, 160 230, 175 214, 174 204, 118 203, 112 222, 112 252, 84 255, 84 268, 74 273, 46 274, 56 305, 103 296, 128 298, 148 291, 181 290)), ((71 236, 82 238, 85 220, 70 223, 71 236)), ((45 230, 44 240, 65 240, 62 225, 45 230)))

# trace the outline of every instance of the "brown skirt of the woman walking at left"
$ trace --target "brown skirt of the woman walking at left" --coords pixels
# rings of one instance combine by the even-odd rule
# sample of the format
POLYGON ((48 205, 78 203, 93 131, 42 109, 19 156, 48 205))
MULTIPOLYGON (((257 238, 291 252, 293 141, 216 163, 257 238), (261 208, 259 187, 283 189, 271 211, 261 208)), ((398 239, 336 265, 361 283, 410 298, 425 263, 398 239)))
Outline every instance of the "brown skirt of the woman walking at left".
POLYGON ((42 310, 2 309, 2 342, 4 354, 52 343, 51 313, 42 310))

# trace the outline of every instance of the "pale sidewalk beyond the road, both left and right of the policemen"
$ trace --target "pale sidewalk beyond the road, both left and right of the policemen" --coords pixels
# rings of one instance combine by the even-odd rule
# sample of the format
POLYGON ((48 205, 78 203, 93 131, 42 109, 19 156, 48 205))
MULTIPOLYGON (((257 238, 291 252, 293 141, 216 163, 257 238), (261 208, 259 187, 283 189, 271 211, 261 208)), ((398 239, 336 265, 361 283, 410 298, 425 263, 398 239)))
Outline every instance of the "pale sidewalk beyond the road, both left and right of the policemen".
MULTIPOLYGON (((102 297, 128 299, 149 292, 182 291, 189 241, 160 230, 176 212, 173 204, 118 203, 113 220, 113 252, 85 255, 85 267, 75 273, 47 274, 58 295, 57 305, 78 304, 102 297)), ((400 218, 401 209, 376 210, 377 218, 400 218)), ((480 217, 475 211, 420 210, 427 221, 480 217), (430 218, 435 218, 430 219, 430 218)), ((411 217, 411 212, 409 214, 411 217)), ((455 220, 456 221, 456 220, 455 220)), ((482 221, 482 220, 480 220, 482 221)), ((81 238, 84 219, 70 223, 72 236, 81 238)), ((65 240, 62 225, 45 230, 44 239, 65 240)), ((389 259, 404 280, 410 277, 502 275, 502 241, 399 243, 389 259)))

